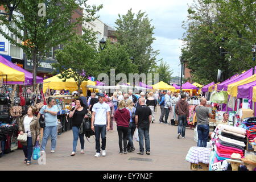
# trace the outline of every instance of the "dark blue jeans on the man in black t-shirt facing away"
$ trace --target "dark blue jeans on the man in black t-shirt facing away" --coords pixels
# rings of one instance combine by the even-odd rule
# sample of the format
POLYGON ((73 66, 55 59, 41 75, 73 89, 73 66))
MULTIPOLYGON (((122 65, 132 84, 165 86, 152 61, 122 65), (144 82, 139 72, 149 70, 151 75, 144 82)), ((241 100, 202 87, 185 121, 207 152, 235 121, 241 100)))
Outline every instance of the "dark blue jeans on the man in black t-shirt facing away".
POLYGON ((149 138, 149 127, 139 127, 139 151, 144 152, 143 137, 145 137, 146 152, 150 152, 150 138, 149 138))

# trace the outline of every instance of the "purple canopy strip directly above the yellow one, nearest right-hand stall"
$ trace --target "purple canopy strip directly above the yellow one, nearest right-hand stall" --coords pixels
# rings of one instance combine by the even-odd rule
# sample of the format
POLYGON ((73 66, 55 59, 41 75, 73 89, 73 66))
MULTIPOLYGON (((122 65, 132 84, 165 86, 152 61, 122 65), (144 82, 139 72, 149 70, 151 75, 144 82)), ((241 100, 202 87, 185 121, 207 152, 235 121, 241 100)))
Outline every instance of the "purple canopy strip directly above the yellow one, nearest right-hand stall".
MULTIPOLYGON (((256 67, 255 67, 255 68, 256 68, 256 67)), ((253 75, 253 68, 249 69, 248 71, 242 73, 242 74, 239 75, 239 76, 230 78, 230 79, 228 79, 228 80, 225 80, 225 81, 222 82, 221 84, 218 84, 218 85, 217 85, 217 90, 225 90, 225 91, 227 91, 227 90, 228 90, 228 85, 233 84, 234 82, 243 80, 243 79, 245 79, 245 78, 247 78, 247 77, 250 77, 251 75, 253 75)))

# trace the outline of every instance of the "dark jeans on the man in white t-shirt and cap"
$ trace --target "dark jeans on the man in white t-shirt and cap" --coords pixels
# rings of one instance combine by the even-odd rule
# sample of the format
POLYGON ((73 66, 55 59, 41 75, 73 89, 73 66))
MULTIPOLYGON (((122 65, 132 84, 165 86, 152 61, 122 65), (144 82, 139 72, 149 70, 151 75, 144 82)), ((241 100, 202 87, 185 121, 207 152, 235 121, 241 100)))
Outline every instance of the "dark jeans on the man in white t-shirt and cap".
POLYGON ((95 131, 95 142, 96 142, 96 152, 100 153, 101 149, 106 149, 106 125, 94 125, 95 131), (101 137, 101 144, 100 144, 101 137))

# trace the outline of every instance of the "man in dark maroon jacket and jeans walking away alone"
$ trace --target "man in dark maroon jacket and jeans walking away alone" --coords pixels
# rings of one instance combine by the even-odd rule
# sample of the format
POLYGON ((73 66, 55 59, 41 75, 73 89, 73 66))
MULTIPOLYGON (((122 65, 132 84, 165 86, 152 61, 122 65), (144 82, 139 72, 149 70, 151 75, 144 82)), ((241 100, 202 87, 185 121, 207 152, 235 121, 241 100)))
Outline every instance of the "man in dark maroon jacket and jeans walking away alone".
POLYGON ((181 100, 179 100, 175 106, 175 113, 179 115, 179 126, 178 126, 178 135, 177 138, 185 138, 185 129, 189 117, 189 107, 188 102, 186 101, 185 94, 181 94, 181 100))

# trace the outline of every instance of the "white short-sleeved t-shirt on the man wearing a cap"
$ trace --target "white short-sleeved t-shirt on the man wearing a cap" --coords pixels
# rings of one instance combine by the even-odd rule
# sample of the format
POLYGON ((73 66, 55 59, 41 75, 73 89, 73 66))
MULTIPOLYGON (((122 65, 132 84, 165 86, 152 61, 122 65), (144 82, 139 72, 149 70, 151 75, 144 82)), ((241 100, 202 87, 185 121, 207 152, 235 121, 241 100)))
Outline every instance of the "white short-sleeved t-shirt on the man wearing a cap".
POLYGON ((106 125, 107 124, 107 112, 110 111, 108 104, 100 102, 93 105, 92 111, 95 112, 94 125, 106 125))

